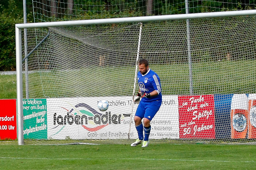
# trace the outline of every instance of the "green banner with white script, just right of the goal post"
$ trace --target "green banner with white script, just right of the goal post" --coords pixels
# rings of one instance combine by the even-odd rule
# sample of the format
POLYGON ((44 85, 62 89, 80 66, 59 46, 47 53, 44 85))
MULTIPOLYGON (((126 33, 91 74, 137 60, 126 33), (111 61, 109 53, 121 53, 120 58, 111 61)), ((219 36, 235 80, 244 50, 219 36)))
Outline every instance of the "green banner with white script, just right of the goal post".
POLYGON ((24 139, 47 139, 46 99, 23 99, 24 139))

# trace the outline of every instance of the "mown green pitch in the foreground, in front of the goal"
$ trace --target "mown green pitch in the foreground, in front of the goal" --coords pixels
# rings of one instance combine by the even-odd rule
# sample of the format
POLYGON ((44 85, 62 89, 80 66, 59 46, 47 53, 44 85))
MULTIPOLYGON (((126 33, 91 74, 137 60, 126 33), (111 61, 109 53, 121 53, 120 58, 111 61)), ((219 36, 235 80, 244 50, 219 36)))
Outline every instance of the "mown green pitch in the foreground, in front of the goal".
POLYGON ((1 169, 255 169, 255 145, 0 143, 1 169))

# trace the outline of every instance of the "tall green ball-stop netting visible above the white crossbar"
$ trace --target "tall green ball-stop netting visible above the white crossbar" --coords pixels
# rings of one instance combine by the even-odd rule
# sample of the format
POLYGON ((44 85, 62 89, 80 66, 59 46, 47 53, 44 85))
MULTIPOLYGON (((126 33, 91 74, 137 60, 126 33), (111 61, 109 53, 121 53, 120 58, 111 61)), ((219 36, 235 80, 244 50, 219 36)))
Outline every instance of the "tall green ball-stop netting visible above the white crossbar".
MULTIPOLYGON (((35 22, 186 14, 182 0, 33 0, 35 22)), ((188 1, 189 13, 255 9, 253 1, 188 1)))

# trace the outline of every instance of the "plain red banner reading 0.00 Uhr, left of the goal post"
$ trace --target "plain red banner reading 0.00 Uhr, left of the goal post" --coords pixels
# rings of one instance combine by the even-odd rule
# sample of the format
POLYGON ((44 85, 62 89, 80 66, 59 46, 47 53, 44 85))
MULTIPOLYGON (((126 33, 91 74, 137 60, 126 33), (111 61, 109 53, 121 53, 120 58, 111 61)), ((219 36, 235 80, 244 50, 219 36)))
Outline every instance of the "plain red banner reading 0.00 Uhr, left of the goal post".
POLYGON ((1 99, 0 107, 0 139, 17 139, 16 99, 1 99))

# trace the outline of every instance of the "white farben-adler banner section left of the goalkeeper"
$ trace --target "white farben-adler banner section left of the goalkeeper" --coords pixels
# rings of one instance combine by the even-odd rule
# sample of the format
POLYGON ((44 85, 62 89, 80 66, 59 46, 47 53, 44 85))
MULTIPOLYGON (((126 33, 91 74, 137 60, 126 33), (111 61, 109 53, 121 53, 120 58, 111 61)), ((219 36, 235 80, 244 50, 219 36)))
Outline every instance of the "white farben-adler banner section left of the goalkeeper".
MULTIPOLYGON (((131 97, 108 97, 109 108, 99 111, 102 97, 47 99, 48 139, 137 138, 131 97), (135 133, 136 132, 136 133, 135 133)), ((136 108, 133 108, 135 112, 136 108)))

